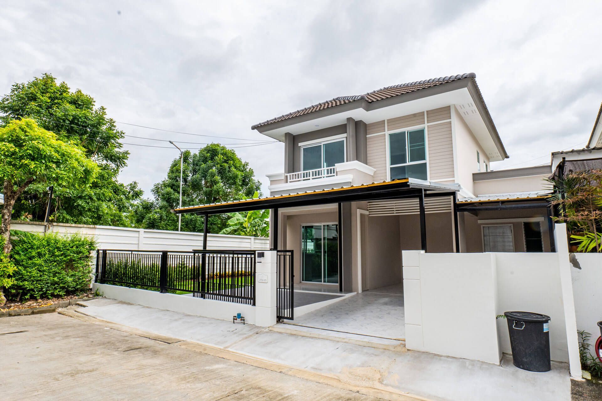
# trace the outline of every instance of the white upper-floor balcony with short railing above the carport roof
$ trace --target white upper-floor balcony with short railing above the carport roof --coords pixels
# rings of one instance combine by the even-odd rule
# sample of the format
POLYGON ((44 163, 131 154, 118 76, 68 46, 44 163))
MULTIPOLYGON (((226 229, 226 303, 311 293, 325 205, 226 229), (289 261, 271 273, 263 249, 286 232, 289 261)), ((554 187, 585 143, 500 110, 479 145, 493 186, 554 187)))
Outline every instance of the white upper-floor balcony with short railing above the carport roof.
POLYGON ((288 195, 373 182, 374 168, 358 161, 295 173, 268 174, 270 195, 288 195))

